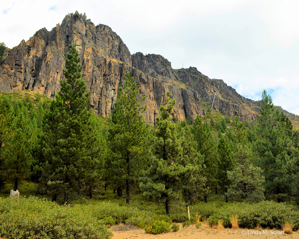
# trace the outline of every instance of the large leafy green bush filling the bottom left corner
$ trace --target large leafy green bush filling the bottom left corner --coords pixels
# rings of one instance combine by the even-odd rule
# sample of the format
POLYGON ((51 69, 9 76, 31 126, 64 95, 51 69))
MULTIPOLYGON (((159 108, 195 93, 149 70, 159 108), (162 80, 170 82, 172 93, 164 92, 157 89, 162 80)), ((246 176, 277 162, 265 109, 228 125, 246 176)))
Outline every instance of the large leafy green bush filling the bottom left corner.
POLYGON ((1 238, 109 239, 112 233, 91 211, 36 197, 0 198, 1 238))

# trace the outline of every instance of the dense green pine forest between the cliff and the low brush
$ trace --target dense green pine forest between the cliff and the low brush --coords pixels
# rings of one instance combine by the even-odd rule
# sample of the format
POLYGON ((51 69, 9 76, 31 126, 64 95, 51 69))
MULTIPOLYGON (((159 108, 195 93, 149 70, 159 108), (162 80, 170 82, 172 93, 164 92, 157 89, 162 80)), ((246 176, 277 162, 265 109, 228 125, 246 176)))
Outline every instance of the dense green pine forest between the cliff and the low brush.
POLYGON ((73 45, 56 100, 1 96, 0 189, 32 181, 39 194, 68 204, 103 186, 126 203, 131 192, 163 202, 167 214, 172 201, 192 205, 212 194, 226 202, 299 203, 298 131, 266 91, 255 123, 210 112, 178 123, 167 92, 151 126, 129 72, 110 118, 88 111, 79 62, 73 45))

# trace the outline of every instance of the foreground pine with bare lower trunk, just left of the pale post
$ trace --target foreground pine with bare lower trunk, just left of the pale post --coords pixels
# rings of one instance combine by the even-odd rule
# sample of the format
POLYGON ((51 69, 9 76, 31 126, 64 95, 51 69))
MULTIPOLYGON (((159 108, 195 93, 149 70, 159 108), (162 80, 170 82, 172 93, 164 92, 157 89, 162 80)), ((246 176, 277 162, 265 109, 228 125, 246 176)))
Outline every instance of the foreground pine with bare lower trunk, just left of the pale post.
POLYGON ((170 201, 180 198, 182 177, 194 172, 194 167, 182 164, 182 147, 178 139, 176 125, 171 122, 170 115, 175 99, 170 102, 170 92, 167 91, 164 106, 159 108, 156 118, 151 147, 151 166, 140 178, 140 188, 144 196, 160 198, 165 202, 166 213, 170 213, 170 201))

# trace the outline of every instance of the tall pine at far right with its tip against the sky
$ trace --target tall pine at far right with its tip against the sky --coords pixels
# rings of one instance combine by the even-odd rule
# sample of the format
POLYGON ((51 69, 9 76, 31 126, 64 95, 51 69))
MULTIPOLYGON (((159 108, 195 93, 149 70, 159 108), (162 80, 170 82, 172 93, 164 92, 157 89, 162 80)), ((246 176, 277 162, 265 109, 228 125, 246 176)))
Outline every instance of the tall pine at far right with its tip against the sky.
POLYGON ((281 202, 288 200, 292 192, 291 169, 295 159, 288 147, 292 124, 283 112, 274 109, 271 96, 265 90, 262 97, 254 152, 259 155, 258 165, 265 176, 266 198, 275 197, 281 202))

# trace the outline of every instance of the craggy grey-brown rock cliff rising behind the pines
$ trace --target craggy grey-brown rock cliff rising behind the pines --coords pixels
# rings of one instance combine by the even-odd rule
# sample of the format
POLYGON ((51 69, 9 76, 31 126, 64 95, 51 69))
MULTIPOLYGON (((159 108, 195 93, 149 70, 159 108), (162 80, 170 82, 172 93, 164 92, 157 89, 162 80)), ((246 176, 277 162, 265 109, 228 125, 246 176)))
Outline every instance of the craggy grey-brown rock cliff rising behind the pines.
POLYGON ((168 90, 177 101, 174 114, 179 121, 188 116, 193 121, 196 115, 205 115, 207 107, 203 103, 211 106, 215 92, 213 109, 224 115, 237 115, 245 121, 254 120, 259 112, 259 102, 242 97, 222 80, 210 79, 195 67, 174 70, 161 55, 140 52, 131 55, 110 27, 95 26, 77 11, 65 16, 61 26, 57 24, 50 32, 42 28, 27 42, 22 40, 10 50, 0 64, 0 91, 29 89, 55 98, 73 43, 81 57, 87 90, 91 91, 89 108, 99 115, 111 114, 127 70, 137 83, 140 97, 146 96, 144 118, 150 124, 154 124, 168 90))

